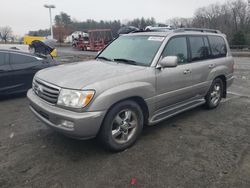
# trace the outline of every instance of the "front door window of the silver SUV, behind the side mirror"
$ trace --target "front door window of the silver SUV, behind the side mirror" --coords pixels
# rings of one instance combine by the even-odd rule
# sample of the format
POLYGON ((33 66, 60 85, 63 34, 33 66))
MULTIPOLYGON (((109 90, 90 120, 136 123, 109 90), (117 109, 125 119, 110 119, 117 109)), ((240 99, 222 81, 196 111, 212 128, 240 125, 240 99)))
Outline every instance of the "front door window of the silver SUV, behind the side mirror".
POLYGON ((177 56, 178 63, 184 64, 187 63, 187 39, 186 37, 176 37, 170 39, 166 48, 163 51, 162 56, 177 56))

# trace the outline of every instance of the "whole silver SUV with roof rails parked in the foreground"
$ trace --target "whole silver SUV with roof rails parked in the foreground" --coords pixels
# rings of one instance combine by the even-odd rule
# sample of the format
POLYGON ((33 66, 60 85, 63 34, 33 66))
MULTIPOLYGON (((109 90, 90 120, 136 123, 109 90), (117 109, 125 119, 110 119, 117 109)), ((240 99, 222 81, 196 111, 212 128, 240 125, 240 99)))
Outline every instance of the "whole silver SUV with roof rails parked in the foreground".
POLYGON ((233 82, 234 60, 224 34, 207 29, 122 35, 95 60, 39 71, 28 91, 44 123, 106 147, 132 146, 154 125, 205 104, 216 108, 233 82))

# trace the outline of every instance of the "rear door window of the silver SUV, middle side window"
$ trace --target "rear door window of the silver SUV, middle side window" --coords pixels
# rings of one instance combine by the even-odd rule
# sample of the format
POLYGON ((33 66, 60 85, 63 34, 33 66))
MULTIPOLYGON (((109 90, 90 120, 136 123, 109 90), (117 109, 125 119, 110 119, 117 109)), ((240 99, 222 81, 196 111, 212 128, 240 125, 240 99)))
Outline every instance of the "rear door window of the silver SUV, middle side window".
POLYGON ((202 36, 189 37, 189 41, 192 61, 199 61, 210 57, 209 46, 208 44, 205 45, 202 36))

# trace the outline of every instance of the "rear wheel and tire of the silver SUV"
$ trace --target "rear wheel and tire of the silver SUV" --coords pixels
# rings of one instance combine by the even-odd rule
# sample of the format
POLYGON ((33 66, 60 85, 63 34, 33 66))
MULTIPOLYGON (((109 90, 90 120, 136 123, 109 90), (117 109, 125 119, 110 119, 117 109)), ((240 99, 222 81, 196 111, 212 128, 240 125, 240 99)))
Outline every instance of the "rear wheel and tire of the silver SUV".
POLYGON ((205 100, 206 100, 205 105, 208 109, 214 109, 219 106, 220 101, 222 99, 222 95, 223 95, 223 89, 224 89, 223 87, 224 87, 223 82, 220 78, 216 78, 213 81, 205 97, 205 100))

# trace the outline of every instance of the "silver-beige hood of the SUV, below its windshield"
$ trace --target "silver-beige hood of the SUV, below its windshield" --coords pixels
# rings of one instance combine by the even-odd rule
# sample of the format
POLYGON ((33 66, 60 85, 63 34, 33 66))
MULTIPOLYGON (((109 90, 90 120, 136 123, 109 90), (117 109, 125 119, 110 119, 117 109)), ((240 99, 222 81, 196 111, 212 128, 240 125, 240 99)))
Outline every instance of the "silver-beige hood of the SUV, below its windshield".
POLYGON ((36 77, 59 87, 82 89, 90 84, 110 78, 116 79, 116 77, 145 68, 93 60, 43 69, 36 74, 36 77))

